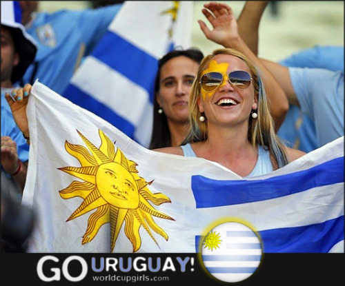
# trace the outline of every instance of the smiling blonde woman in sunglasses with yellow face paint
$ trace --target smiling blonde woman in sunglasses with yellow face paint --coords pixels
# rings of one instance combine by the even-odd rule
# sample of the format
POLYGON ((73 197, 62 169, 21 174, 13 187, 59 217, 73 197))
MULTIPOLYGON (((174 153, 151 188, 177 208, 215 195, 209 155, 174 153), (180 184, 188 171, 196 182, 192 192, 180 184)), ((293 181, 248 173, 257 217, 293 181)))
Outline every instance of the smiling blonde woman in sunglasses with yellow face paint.
POLYGON ((272 172, 305 154, 276 136, 262 79, 237 50, 215 50, 201 61, 189 104, 183 145, 156 151, 215 161, 243 177, 272 172))

